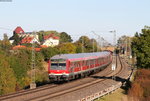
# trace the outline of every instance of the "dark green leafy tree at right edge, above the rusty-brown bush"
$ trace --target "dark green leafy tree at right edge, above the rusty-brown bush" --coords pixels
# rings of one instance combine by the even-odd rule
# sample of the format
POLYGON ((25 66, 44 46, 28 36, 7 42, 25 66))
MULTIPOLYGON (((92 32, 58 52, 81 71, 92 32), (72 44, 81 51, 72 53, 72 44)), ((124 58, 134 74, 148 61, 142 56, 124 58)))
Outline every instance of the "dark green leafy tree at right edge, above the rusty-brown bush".
POLYGON ((150 68, 150 28, 142 29, 136 33, 132 41, 132 51, 137 58, 139 68, 150 68))

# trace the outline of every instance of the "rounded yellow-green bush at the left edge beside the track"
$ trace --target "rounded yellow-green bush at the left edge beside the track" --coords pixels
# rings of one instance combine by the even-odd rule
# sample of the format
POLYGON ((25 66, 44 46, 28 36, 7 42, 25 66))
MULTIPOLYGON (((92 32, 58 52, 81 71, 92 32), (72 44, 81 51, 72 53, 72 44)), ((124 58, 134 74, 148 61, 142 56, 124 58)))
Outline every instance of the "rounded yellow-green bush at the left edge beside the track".
POLYGON ((10 68, 8 58, 1 50, 0 57, 0 95, 15 92, 16 78, 14 71, 10 68))

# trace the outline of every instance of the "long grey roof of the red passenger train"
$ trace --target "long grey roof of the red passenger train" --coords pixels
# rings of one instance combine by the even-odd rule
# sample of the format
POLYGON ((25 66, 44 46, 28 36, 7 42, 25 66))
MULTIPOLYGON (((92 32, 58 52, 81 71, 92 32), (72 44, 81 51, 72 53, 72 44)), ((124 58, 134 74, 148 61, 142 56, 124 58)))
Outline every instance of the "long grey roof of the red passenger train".
POLYGON ((94 52, 94 53, 78 53, 78 54, 60 54, 55 55, 51 59, 79 59, 79 58, 92 58, 92 57, 104 57, 109 55, 110 52, 103 51, 103 52, 94 52))

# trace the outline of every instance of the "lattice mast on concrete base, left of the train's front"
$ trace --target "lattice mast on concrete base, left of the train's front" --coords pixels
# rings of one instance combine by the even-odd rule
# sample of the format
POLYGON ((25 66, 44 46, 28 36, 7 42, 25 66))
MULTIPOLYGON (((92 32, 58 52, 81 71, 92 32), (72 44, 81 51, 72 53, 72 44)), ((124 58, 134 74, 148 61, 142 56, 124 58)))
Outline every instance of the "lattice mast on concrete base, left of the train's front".
POLYGON ((36 88, 35 83, 35 41, 36 38, 36 32, 33 32, 33 42, 32 42, 32 60, 31 60, 31 83, 30 83, 30 89, 36 88))

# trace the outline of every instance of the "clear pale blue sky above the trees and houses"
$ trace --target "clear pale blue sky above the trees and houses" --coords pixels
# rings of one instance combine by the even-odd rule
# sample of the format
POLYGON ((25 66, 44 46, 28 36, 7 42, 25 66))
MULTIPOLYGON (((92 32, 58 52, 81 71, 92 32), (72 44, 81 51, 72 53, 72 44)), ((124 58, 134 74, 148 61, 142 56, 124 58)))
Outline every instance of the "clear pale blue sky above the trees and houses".
MULTIPOLYGON (((150 25, 150 0, 12 0, 0 2, 0 28, 25 31, 56 30, 77 39, 80 35, 94 37, 91 31, 112 41, 117 37, 133 36, 150 25)), ((12 31, 0 29, 12 36, 12 31)))

